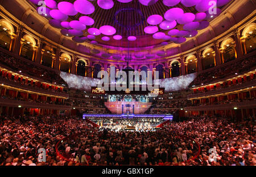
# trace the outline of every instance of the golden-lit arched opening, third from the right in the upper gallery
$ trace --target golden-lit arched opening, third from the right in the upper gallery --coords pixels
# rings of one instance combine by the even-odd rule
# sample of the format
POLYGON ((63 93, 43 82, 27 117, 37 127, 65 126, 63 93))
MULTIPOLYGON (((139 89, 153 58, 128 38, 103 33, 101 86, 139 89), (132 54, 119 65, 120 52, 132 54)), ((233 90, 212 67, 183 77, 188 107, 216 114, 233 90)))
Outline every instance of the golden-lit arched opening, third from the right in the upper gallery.
POLYGON ((215 58, 213 54, 214 50, 212 48, 205 49, 202 58, 202 68, 203 70, 213 68, 215 66, 215 58))

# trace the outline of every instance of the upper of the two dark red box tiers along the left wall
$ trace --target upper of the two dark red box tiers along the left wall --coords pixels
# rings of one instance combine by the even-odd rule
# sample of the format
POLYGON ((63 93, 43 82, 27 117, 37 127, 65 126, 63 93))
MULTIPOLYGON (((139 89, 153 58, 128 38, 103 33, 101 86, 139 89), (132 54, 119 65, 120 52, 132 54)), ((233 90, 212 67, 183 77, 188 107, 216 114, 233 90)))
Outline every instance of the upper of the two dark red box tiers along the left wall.
POLYGON ((68 97, 68 94, 65 94, 63 92, 48 91, 48 90, 44 90, 43 88, 38 88, 38 87, 33 87, 33 86, 28 86, 28 85, 22 85, 18 82, 10 81, 10 80, 2 78, 2 77, 0 77, 0 83, 3 83, 5 85, 11 86, 11 87, 22 88, 22 89, 28 90, 28 91, 40 92, 42 94, 68 97))

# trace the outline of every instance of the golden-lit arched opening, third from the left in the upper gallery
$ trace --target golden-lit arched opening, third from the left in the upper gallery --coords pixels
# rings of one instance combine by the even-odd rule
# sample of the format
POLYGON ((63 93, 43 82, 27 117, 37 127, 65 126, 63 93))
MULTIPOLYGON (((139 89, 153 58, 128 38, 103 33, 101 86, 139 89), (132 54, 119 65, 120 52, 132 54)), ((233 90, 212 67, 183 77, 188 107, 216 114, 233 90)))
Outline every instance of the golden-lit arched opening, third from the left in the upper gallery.
POLYGON ((53 67, 53 58, 55 57, 55 51, 48 45, 43 47, 41 64, 48 67, 53 67))

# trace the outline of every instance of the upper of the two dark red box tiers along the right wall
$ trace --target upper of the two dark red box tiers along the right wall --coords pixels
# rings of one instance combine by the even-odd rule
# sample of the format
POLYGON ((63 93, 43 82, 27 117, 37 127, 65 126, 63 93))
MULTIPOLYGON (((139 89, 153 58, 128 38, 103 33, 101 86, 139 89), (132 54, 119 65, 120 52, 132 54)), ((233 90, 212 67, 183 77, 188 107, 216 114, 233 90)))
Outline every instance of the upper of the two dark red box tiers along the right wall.
POLYGON ((191 95, 188 95, 188 98, 197 98, 197 97, 201 97, 201 96, 210 96, 210 95, 216 95, 216 94, 223 94, 225 92, 232 92, 232 91, 236 91, 236 90, 241 90, 241 89, 244 89, 244 88, 247 88, 247 87, 252 87, 252 86, 255 86, 255 85, 256 85, 256 80, 253 80, 253 81, 242 83, 241 85, 237 84, 235 86, 220 88, 218 90, 212 90, 212 91, 202 92, 202 93, 198 93, 198 94, 191 94, 191 95))

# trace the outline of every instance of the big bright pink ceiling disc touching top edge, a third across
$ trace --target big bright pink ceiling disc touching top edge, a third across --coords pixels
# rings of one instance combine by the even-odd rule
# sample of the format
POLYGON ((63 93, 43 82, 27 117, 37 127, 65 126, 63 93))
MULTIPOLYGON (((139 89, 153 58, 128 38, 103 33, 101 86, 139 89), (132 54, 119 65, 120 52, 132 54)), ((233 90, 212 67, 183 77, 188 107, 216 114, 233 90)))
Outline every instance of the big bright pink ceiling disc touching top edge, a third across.
POLYGON ((94 6, 92 3, 86 0, 77 0, 74 2, 74 7, 75 10, 80 12, 81 14, 92 14, 95 10, 94 6))

